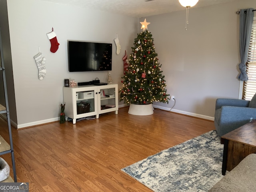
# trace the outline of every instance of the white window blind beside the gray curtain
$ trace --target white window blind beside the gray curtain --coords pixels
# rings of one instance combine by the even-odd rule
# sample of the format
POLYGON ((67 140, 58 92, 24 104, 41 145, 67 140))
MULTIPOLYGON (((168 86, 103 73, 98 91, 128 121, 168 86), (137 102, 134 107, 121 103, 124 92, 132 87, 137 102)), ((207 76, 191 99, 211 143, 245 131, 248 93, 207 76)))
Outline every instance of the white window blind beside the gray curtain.
POLYGON ((248 81, 244 81, 243 99, 251 100, 256 93, 256 17, 253 18, 246 73, 248 81))

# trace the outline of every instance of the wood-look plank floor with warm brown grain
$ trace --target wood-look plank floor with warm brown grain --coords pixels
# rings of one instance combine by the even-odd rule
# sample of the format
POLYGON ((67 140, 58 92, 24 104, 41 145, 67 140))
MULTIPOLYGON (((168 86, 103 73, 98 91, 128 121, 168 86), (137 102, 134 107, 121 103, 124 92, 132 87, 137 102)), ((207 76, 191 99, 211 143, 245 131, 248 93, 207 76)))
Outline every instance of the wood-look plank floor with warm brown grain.
MULTIPOLYGON (((7 128, 0 118, 5 139, 7 128)), ((120 169, 210 130, 209 120, 160 109, 134 116, 128 108, 74 125, 13 128, 17 180, 30 192, 151 192, 120 169)), ((11 165, 10 154, 1 157, 11 165)))

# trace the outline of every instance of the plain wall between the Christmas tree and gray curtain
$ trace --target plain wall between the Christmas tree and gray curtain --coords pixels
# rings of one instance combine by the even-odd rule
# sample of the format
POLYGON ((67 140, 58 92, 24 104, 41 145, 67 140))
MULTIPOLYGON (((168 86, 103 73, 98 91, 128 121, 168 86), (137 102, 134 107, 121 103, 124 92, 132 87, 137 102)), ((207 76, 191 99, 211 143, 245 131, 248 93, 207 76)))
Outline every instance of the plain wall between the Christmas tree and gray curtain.
MULTIPOLYGON (((189 10, 187 30, 185 8, 147 18, 167 92, 176 98, 172 111, 213 120, 216 98, 238 98, 239 15, 235 12, 250 7, 256 9, 255 0, 195 6, 189 10)), ((155 103, 166 110, 173 104, 155 103)))

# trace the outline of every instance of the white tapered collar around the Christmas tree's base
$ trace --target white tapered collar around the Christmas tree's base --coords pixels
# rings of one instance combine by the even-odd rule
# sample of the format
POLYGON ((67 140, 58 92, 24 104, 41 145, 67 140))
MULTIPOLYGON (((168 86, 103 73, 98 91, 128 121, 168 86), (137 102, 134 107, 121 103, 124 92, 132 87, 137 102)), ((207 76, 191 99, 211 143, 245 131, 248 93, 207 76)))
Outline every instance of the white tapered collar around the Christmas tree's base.
POLYGON ((152 115, 154 108, 152 104, 148 105, 136 105, 130 104, 128 114, 131 115, 152 115))

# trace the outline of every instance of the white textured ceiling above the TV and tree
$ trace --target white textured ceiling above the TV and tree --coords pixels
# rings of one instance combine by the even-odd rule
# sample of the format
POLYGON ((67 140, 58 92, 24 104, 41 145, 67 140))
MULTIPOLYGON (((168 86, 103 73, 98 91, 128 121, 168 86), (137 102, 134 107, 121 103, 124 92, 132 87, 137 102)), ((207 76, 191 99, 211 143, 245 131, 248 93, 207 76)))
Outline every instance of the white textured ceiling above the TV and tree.
MULTIPOLYGON (((178 0, 42 0, 105 12, 124 14, 136 18, 185 10, 178 0)), ((204 7, 235 0, 199 0, 194 7, 204 7)), ((242 0, 241 0, 242 1, 242 0)))

